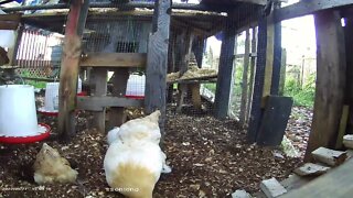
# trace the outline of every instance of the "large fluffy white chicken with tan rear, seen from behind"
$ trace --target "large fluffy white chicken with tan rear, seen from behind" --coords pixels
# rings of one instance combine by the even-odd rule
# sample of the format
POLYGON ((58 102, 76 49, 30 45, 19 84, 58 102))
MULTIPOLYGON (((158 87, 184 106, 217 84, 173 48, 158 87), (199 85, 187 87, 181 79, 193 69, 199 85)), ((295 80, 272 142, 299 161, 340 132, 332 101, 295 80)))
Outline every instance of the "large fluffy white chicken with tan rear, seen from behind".
POLYGON ((108 185, 130 198, 151 198, 161 173, 170 173, 159 146, 160 111, 109 131, 104 160, 108 185))

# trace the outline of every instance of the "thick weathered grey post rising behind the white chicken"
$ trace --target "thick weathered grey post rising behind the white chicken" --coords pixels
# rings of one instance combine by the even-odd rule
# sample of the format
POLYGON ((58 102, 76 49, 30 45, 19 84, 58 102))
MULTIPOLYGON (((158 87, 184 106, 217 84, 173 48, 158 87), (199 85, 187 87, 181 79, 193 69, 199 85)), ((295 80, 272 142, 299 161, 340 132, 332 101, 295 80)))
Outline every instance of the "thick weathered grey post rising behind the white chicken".
POLYGON ((149 37, 145 108, 147 113, 161 111, 160 128, 164 133, 167 61, 169 45, 169 28, 171 0, 157 0, 153 15, 153 31, 149 37))

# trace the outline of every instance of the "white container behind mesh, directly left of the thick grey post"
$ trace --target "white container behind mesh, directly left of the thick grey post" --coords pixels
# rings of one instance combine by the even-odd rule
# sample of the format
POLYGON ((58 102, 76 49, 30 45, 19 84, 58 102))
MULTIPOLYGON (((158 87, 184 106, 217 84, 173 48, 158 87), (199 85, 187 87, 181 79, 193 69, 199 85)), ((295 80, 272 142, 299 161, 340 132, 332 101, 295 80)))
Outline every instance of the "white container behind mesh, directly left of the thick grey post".
POLYGON ((126 88, 127 97, 145 97, 146 76, 130 75, 126 88))

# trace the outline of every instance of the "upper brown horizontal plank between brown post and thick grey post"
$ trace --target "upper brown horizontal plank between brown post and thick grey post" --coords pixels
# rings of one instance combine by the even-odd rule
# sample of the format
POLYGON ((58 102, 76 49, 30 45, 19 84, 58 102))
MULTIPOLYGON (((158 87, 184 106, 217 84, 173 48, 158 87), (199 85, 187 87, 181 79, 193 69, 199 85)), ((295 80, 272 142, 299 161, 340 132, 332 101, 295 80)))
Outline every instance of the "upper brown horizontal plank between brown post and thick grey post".
POLYGON ((146 53, 88 53, 82 67, 146 67, 146 53))

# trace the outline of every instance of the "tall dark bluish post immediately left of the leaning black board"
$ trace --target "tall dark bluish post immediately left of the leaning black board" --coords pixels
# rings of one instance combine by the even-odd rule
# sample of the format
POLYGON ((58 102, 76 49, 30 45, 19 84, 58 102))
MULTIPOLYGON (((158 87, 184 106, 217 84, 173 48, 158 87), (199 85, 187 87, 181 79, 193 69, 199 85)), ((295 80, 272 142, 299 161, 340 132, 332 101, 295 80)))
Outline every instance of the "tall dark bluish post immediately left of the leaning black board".
POLYGON ((258 43, 257 43, 257 61, 254 79, 254 91, 252 101, 252 111, 249 117, 249 127, 247 131, 247 141, 249 143, 256 142, 257 132, 261 120, 261 102, 265 80, 266 67, 266 46, 267 46, 267 21, 266 18, 259 19, 258 22, 258 43))

